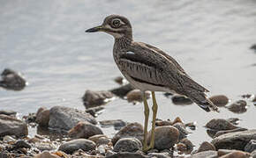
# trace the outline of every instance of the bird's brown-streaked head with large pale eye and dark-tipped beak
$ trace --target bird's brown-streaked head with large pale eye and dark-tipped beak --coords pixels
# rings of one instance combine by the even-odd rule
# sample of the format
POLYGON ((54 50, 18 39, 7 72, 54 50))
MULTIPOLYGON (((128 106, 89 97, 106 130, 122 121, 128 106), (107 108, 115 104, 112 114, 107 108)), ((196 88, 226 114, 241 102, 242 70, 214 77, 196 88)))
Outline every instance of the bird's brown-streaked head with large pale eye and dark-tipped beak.
POLYGON ((88 29, 86 32, 106 32, 115 39, 126 37, 132 39, 132 25, 129 20, 119 15, 109 15, 102 25, 88 29))

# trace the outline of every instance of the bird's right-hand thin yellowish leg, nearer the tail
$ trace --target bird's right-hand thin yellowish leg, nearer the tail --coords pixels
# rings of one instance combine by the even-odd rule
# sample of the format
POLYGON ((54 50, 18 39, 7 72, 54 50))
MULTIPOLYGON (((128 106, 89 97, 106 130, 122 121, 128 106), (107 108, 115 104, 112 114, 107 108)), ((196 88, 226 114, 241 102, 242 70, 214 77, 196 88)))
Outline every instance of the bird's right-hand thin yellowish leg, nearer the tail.
POLYGON ((153 120, 152 120, 151 140, 150 140, 149 148, 154 148, 154 127, 155 127, 155 118, 156 118, 156 113, 157 113, 158 106, 156 104, 154 91, 152 91, 151 93, 152 93, 152 100, 153 100, 153 106, 152 106, 153 120))

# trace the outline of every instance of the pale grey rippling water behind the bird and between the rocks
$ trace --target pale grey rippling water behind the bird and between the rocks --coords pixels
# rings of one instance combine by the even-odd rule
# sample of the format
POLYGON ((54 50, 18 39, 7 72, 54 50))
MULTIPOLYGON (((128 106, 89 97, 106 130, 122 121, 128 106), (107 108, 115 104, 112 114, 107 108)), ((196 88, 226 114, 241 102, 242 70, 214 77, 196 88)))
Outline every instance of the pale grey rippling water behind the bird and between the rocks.
MULTIPOLYGON (((132 22, 134 39, 168 52, 198 83, 224 94, 232 101, 255 94, 256 1, 94 1, 94 0, 1 0, 0 69, 21 71, 30 83, 23 91, 0 90, 0 108, 35 112, 41 106, 64 105, 84 110, 80 97, 85 90, 117 87, 120 75, 113 58, 113 38, 104 33, 85 33, 117 13, 132 22), (254 66, 253 66, 254 64, 254 66)), ((195 104, 175 106, 157 93, 158 118, 197 121, 190 135, 195 145, 211 140, 203 128, 211 118, 241 118, 240 126, 255 128, 256 107, 234 114, 206 113, 195 104)), ((143 123, 143 105, 117 99, 105 106, 97 119, 143 123)), ((113 135, 112 128, 104 133, 113 135)), ((34 131, 32 131, 33 134, 34 131)))

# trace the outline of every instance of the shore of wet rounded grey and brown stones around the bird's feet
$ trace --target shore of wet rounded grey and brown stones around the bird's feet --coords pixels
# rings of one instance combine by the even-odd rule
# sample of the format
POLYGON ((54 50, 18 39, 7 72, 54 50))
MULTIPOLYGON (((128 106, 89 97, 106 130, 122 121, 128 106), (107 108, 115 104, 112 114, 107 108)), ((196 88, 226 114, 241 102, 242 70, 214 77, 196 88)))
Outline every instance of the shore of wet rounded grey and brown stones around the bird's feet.
MULTIPOLYGON (((118 83, 124 79, 117 78, 118 83)), ((124 82, 125 83, 125 82, 124 82)), ((190 105, 186 97, 165 94, 173 104, 190 105)), ((41 107, 38 111, 17 117, 16 111, 0 111, 0 157, 89 157, 89 158, 246 158, 256 157, 256 129, 239 126, 239 118, 213 118, 205 125, 211 141, 201 140, 199 147, 188 139, 197 130, 194 122, 182 118, 162 120, 155 127, 154 149, 142 152, 143 126, 137 122, 121 119, 97 120, 104 104, 121 97, 136 104, 142 101, 141 94, 130 84, 117 89, 87 90, 82 101, 85 111, 71 107, 41 107), (114 126, 117 133, 109 138, 104 127, 114 126), (29 136, 28 127, 37 128, 37 134, 29 136)), ((147 93, 150 97, 150 93, 147 93)), ((241 100, 230 102, 223 95, 210 97, 221 108, 234 113, 247 111, 247 102, 255 104, 254 95, 243 95, 241 100)), ((195 120, 196 121, 196 120, 195 120)), ((150 132, 148 133, 148 141, 150 132)), ((200 137, 200 136, 199 136, 200 137)))

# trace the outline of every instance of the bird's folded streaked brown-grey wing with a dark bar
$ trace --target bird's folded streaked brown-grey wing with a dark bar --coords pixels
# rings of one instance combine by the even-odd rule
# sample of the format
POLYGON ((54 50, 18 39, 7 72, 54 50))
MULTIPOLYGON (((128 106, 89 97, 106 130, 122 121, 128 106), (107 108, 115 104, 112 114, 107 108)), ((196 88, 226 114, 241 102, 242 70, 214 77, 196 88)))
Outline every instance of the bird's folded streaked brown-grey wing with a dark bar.
POLYGON ((144 83, 168 87, 177 92, 182 92, 184 86, 207 91, 186 75, 184 69, 168 54, 145 43, 133 42, 130 50, 120 55, 119 65, 133 79, 144 83))

